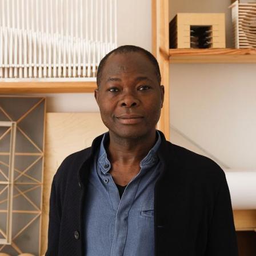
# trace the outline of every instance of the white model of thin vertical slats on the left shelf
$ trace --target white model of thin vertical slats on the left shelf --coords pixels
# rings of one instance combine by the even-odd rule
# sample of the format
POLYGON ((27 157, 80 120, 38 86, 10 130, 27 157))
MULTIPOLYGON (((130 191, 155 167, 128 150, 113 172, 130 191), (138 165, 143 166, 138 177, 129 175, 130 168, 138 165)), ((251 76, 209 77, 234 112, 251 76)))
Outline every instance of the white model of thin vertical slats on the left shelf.
POLYGON ((0 17, 0 80, 95 81, 117 46, 117 0, 0 0, 0 17))

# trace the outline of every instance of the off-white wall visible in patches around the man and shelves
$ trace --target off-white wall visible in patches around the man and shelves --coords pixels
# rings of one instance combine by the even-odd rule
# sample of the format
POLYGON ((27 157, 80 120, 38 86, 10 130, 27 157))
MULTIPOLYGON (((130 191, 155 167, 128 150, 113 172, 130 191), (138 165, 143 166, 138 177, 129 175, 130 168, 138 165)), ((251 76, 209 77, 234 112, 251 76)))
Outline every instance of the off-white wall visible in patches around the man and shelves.
MULTIPOLYGON (((213 9, 222 0, 212 1, 213 6, 198 1, 193 1, 194 6, 213 9)), ((151 49, 151 0, 118 0, 118 45, 124 44, 151 49)), ((98 111, 93 94, 47 96, 49 112, 98 111)), ((170 65, 171 125, 223 167, 256 169, 255 113, 255 64, 170 65)), ((174 130, 171 141, 204 154, 174 130)))

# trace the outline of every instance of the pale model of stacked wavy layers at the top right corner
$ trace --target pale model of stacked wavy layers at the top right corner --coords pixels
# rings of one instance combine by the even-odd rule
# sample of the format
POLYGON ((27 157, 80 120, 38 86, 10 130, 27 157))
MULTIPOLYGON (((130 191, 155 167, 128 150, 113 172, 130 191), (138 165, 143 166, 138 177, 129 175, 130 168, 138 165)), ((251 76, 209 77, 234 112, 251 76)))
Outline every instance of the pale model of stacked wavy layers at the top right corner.
POLYGON ((235 1, 232 9, 232 25, 235 48, 256 48, 256 2, 235 1))

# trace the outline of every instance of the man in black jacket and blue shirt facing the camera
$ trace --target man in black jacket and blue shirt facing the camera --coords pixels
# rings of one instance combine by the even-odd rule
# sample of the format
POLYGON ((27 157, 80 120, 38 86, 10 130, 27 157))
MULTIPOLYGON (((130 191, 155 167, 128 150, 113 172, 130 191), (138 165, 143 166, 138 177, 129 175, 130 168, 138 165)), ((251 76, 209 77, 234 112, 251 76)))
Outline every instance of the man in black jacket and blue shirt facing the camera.
POLYGON ((238 255, 223 170, 155 129, 164 87, 153 55, 118 47, 97 85, 109 132, 55 174, 46 255, 238 255))

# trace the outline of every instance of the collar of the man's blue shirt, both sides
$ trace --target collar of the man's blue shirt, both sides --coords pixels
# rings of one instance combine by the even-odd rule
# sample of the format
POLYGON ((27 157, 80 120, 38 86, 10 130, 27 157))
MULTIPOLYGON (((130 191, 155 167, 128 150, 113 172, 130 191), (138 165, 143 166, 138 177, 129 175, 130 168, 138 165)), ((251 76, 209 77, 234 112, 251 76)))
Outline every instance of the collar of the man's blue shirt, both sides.
MULTIPOLYGON (((141 168, 153 166, 156 162, 158 162, 157 150, 161 144, 161 135, 159 134, 158 130, 156 130, 156 133, 157 133, 157 141, 155 142, 155 145, 149 150, 149 153, 147 153, 146 157, 143 158, 142 161, 139 163, 139 166, 141 168)), ((103 135, 101 146, 99 148, 99 157, 97 161, 99 168, 104 174, 106 174, 111 168, 111 164, 109 159, 107 158, 107 152, 106 152, 106 146, 108 142, 109 142, 109 132, 107 131, 107 133, 103 135)))

